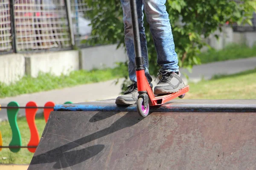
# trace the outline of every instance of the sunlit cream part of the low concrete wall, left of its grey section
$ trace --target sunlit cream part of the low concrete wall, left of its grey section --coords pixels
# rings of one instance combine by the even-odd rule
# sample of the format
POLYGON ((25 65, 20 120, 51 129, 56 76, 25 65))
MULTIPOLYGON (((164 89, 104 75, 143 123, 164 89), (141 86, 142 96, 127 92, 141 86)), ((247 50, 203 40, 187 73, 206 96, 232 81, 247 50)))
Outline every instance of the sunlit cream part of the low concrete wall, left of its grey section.
POLYGON ((0 56, 0 82, 7 85, 18 81, 25 74, 37 77, 41 71, 58 76, 73 70, 79 70, 79 51, 0 56))

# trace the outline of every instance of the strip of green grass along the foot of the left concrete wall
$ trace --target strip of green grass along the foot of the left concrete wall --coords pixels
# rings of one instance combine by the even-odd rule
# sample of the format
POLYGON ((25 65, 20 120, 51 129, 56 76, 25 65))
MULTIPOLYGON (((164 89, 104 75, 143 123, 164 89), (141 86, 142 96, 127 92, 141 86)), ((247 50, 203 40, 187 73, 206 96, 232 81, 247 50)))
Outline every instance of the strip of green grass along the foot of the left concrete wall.
POLYGON ((49 73, 40 73, 37 78, 25 76, 11 85, 0 83, 0 98, 107 81, 123 77, 126 72, 125 66, 122 65, 113 69, 72 71, 69 75, 61 75, 59 77, 49 73))

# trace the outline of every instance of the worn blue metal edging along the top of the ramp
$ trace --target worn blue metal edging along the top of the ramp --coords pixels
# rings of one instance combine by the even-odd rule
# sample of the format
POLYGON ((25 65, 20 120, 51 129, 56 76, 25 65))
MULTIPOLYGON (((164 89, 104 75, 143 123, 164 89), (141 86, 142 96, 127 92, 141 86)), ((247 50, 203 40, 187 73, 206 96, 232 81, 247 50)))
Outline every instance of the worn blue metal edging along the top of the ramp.
MULTIPOLYGON (((120 111, 137 112, 136 105, 118 106, 115 104, 68 104, 55 105, 54 111, 120 111)), ((256 105, 221 104, 173 104, 151 106, 150 112, 256 112, 256 105)))

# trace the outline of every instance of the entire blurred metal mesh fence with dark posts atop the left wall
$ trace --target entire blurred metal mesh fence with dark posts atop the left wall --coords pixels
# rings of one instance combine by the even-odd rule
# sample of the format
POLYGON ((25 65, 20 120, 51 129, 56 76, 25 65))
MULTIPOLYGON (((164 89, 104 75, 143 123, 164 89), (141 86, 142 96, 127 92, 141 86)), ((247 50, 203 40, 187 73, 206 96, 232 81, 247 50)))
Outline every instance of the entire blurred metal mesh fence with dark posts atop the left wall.
POLYGON ((92 38, 90 10, 85 0, 0 0, 0 53, 81 45, 92 38))

